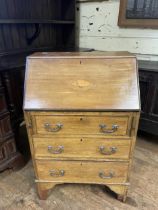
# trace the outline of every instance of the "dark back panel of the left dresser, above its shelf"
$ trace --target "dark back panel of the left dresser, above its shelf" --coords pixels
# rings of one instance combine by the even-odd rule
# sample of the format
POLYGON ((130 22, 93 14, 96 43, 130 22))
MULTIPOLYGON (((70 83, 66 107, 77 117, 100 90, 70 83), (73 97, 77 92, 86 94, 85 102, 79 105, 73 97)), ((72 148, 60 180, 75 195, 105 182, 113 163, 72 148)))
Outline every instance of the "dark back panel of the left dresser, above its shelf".
POLYGON ((1 19, 74 19, 74 0, 0 0, 1 19))

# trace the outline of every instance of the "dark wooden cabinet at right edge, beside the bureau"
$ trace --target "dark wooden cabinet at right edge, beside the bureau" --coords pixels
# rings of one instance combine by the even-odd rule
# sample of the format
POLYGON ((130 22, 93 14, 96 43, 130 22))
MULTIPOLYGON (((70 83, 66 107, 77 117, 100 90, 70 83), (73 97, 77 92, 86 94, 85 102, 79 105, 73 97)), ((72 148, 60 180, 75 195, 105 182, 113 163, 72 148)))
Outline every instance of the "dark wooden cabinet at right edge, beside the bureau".
POLYGON ((139 130, 158 135, 158 63, 141 62, 139 79, 141 95, 139 130))

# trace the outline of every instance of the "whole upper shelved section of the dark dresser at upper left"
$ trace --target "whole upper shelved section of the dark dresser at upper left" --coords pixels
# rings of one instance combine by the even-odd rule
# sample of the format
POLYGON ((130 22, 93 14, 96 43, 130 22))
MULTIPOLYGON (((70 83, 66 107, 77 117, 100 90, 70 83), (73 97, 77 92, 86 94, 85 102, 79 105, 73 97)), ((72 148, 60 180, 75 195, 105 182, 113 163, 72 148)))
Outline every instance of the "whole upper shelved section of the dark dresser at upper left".
POLYGON ((74 0, 0 0, 0 56, 73 48, 74 25, 74 0))

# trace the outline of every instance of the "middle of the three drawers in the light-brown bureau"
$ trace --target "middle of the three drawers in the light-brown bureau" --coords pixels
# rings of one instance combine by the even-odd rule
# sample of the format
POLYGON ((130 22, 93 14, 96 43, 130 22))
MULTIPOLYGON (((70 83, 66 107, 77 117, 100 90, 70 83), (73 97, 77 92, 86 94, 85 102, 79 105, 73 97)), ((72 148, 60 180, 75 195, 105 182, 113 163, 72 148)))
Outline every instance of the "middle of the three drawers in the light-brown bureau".
POLYGON ((33 138, 35 157, 128 159, 131 140, 102 138, 33 138))

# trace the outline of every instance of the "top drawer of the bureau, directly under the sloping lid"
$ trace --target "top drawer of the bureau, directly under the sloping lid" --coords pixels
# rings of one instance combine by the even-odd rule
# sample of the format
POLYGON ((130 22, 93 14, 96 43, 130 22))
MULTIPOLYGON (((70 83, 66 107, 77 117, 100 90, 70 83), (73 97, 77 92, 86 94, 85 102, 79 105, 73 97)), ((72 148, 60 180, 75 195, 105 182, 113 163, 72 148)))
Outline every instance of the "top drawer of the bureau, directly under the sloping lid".
POLYGON ((129 136, 132 113, 52 113, 31 114, 34 135, 129 136))

